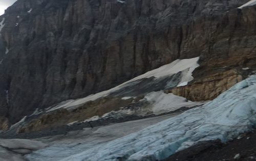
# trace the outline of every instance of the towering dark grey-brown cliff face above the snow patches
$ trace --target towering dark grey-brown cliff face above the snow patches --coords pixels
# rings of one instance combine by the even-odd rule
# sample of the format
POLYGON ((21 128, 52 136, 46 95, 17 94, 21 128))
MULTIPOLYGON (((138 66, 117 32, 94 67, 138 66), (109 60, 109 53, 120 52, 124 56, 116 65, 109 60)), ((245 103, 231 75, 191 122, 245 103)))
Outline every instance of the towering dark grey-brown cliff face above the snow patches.
POLYGON ((15 123, 178 58, 201 56, 201 71, 254 67, 256 10, 237 9, 246 2, 18 0, 0 16, 1 116, 15 123))

